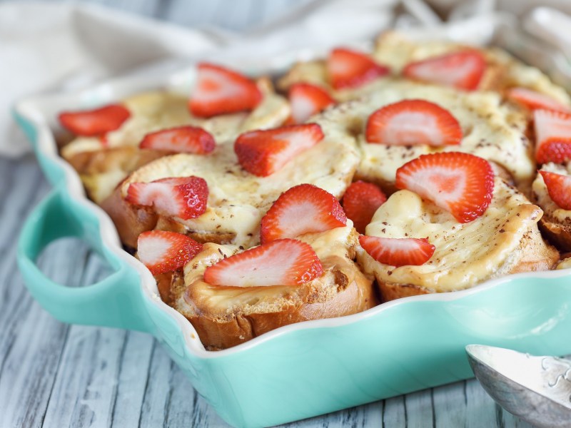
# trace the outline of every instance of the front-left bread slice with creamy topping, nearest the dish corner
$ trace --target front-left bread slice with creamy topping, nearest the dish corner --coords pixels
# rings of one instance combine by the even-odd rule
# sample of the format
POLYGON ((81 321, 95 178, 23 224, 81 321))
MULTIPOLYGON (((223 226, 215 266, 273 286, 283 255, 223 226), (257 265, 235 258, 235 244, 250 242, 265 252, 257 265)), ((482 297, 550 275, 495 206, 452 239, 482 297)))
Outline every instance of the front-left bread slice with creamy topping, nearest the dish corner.
POLYGON ((340 317, 378 302, 372 277, 353 262, 357 233, 345 227, 298 237, 323 265, 319 278, 295 286, 216 287, 203 281, 206 267, 241 252, 235 245, 207 243, 184 268, 184 281, 171 281, 170 299, 196 328, 203 345, 221 350, 295 322, 340 317))

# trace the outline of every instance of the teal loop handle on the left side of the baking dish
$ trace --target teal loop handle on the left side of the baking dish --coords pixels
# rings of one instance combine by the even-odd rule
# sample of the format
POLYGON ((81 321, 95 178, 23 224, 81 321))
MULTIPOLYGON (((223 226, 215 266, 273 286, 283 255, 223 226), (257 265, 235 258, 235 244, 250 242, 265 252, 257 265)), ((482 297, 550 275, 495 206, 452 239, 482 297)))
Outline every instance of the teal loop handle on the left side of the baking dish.
MULTIPOLYGON (((136 269, 103 245, 101 224, 93 210, 56 188, 34 208, 18 243, 18 266, 31 295, 58 320, 152 331, 136 269), (105 279, 86 287, 68 287, 46 277, 36 259, 49 243, 77 237, 89 243, 113 267, 105 279)), ((64 255, 65 256, 65 255, 64 255)))

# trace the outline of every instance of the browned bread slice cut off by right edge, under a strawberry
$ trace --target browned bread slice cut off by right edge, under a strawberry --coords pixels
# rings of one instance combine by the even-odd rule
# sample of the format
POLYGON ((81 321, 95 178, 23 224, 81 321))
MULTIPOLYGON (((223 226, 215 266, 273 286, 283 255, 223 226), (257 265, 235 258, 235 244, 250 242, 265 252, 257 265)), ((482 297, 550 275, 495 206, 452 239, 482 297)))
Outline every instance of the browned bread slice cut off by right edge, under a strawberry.
MULTIPOLYGON (((541 170, 571 175, 571 163, 567 165, 545 163, 541 170)), ((541 174, 537 174, 537 178, 533 181, 532 200, 543 210, 540 229, 545 237, 561 251, 571 251, 571 211, 564 210, 550 198, 541 174)))

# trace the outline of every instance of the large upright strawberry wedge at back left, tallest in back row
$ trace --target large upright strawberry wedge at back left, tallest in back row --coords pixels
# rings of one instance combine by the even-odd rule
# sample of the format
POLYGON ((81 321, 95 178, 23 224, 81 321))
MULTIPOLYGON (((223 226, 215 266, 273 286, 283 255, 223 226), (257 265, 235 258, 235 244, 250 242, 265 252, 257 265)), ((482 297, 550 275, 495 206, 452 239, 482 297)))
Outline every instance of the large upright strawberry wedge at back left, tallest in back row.
POLYGON ((262 93, 251 79, 228 68, 200 63, 188 108, 194 116, 209 118, 252 110, 261 100, 262 93))

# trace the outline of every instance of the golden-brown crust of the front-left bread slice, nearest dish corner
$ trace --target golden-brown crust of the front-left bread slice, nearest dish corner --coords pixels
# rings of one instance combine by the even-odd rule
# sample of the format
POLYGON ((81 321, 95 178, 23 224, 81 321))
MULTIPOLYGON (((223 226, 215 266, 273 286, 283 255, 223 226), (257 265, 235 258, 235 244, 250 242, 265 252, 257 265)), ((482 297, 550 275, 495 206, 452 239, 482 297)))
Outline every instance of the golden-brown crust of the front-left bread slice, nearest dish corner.
MULTIPOLYGON (((208 258, 208 252, 215 254, 217 250, 208 245, 205 251, 204 257, 208 258)), ((330 258, 324 267, 333 274, 328 276, 333 278, 331 283, 313 281, 298 285, 292 289, 295 298, 277 297, 270 307, 253 304, 221 313, 210 306, 208 298, 203 298, 200 287, 180 283, 171 287, 173 307, 192 323, 207 349, 221 350, 283 325, 351 315, 378 305, 373 280, 360 272, 353 260, 330 258)))

